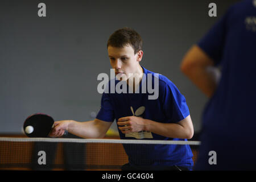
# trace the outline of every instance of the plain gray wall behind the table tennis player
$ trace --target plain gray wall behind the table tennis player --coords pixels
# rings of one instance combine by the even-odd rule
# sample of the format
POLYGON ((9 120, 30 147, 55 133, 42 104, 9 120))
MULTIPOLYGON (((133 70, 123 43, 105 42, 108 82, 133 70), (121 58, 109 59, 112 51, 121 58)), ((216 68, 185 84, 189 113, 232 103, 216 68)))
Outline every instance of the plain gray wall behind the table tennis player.
POLYGON ((22 133, 24 119, 38 112, 56 121, 92 120, 100 109, 97 76, 110 75, 106 43, 125 26, 142 36, 141 64, 184 94, 199 131, 207 97, 180 72, 180 61, 234 2, 1 1, 0 133, 22 133), (45 18, 38 16, 40 2, 45 18), (208 16, 210 2, 217 18, 208 16))

